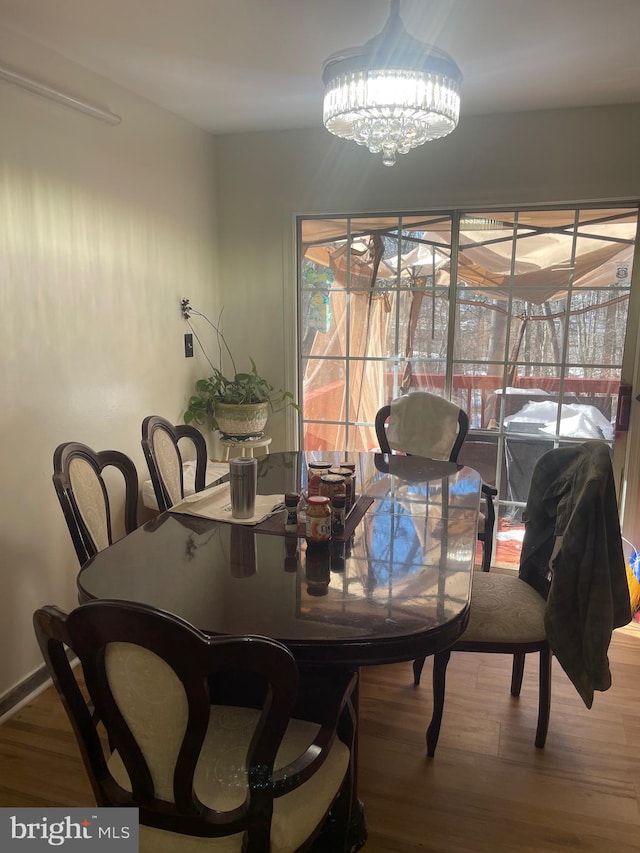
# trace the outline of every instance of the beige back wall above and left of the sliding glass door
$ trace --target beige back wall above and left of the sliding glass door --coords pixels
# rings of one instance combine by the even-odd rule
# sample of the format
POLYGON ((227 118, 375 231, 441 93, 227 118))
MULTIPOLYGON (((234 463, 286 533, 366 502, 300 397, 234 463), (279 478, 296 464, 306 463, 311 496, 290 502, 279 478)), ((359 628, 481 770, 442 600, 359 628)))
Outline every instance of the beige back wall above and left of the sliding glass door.
MULTIPOLYGON (((296 381, 295 214, 640 198, 640 105, 463 117, 451 136, 392 168, 322 129, 222 136, 217 145, 229 337, 242 339, 239 318, 254 306, 250 353, 288 387, 296 381)), ((626 378, 632 372, 631 360, 626 378)), ((270 429, 274 447, 291 444, 283 416, 270 429)))

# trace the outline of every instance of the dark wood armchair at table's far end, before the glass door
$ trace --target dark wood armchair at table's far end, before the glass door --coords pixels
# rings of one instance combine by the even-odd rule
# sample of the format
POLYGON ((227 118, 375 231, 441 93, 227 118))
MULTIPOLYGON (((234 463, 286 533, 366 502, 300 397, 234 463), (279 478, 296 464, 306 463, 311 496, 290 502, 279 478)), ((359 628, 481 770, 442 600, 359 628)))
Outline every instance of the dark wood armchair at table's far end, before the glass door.
MULTIPOLYGON (((458 454, 469 431, 469 418, 464 409, 443 397, 426 391, 415 391, 379 409, 376 414, 375 429, 382 453, 391 453, 396 450, 440 461, 457 462, 458 454), (415 428, 409 426, 405 431, 407 438, 402 434, 401 429, 399 440, 394 442, 392 439, 390 442, 391 420, 400 401, 403 406, 402 418, 409 423, 415 419, 418 426, 415 428), (446 425, 444 434, 438 429, 438 425, 443 423, 446 425), (404 444, 404 441, 407 443, 404 444), (437 447, 434 442, 437 442, 437 447)), ((491 567, 496 518, 493 501, 498 491, 493 486, 483 483, 482 494, 485 503, 484 512, 481 513, 478 523, 478 540, 482 542, 482 571, 488 572, 491 567)))

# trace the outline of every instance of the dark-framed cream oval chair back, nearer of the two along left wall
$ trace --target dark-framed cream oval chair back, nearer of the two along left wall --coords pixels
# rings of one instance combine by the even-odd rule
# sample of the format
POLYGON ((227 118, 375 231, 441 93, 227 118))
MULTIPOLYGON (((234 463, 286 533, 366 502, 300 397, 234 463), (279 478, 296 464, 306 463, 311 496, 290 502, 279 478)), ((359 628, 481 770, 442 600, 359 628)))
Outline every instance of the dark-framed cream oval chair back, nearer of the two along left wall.
POLYGON ((95 451, 79 442, 61 444, 53 454, 53 485, 81 566, 114 541, 102 476, 106 468, 117 469, 124 478, 122 535, 131 533, 138 523, 138 474, 131 459, 118 450, 95 451))

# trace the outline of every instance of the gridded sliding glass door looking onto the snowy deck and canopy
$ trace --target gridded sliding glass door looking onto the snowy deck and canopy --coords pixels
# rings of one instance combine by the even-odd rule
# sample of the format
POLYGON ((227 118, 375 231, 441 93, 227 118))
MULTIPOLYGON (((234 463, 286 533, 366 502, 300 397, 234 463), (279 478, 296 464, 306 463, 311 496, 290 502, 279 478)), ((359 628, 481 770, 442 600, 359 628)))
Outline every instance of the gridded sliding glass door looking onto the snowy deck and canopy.
POLYGON ((602 206, 300 218, 302 446, 374 449, 394 397, 452 399, 471 423, 462 461, 499 490, 496 561, 517 563, 540 454, 614 444, 637 220, 602 206))

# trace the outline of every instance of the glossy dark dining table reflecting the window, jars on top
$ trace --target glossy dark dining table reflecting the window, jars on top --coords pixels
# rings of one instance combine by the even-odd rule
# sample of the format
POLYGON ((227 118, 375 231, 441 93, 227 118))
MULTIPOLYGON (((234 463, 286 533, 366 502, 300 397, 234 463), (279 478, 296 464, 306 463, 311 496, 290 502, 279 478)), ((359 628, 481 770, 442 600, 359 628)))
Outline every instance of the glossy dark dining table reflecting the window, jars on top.
MULTIPOLYGON (((451 646, 469 617, 480 475, 417 456, 271 453, 258 460, 258 493, 306 493, 307 464, 320 458, 355 466, 343 536, 317 545, 286 534, 284 509, 254 526, 170 510, 87 562, 79 600, 143 602, 206 633, 275 638, 311 678, 451 646)), ((357 704, 356 691, 356 718, 357 704)), ((367 837, 355 778, 353 796, 350 851, 367 837)), ((329 825, 314 850, 336 843, 329 825)))

